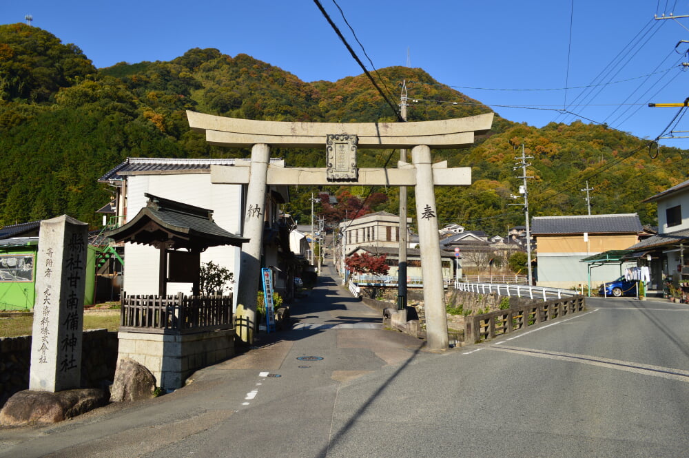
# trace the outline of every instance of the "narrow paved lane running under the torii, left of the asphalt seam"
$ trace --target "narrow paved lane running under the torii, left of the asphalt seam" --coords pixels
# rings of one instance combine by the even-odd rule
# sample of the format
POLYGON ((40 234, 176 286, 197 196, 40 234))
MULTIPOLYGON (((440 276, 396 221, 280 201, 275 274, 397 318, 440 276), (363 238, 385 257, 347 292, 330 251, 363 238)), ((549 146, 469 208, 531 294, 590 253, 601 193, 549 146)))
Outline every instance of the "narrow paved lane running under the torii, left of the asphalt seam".
POLYGON ((291 314, 293 330, 261 335, 175 393, 0 430, 0 457, 323 456, 339 388, 408 362, 423 341, 381 329, 381 313, 328 276, 291 314))

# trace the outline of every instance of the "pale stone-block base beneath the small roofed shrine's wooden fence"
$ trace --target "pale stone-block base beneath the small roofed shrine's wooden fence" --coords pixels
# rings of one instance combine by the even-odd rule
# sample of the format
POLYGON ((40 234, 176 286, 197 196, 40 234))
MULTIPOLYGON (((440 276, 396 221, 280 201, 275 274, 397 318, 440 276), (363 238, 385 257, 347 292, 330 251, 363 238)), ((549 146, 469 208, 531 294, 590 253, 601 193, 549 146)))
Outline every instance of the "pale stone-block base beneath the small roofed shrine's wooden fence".
POLYGON ((165 390, 184 386, 194 371, 234 355, 234 329, 196 334, 119 332, 119 357, 146 366, 165 390))

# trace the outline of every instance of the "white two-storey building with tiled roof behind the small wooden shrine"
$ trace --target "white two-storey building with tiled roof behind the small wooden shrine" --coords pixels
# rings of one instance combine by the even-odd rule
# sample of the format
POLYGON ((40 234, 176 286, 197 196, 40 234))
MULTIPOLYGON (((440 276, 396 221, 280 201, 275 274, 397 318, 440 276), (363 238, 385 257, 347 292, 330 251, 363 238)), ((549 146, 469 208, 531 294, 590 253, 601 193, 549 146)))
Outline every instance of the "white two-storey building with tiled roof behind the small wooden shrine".
MULTIPOLYGON (((275 162, 279 160, 271 160, 275 162)), ((242 235, 245 217, 246 190, 243 185, 211 183, 212 165, 234 165, 234 159, 164 159, 127 158, 110 170, 99 182, 116 189, 116 217, 119 227, 127 218, 133 218, 146 206, 145 194, 154 194, 169 200, 202 207, 213 211, 216 224, 230 233, 242 235)), ((266 233, 262 262, 264 266, 280 266, 278 252, 289 251, 287 231, 280 235, 282 221, 278 204, 289 198, 286 187, 274 187, 268 193, 271 205, 266 206, 266 233), (280 237, 285 238, 281 240, 280 237)), ((285 228, 282 228, 285 229, 285 228)), ((143 244, 126 243, 122 291, 129 295, 155 294, 159 276, 158 250, 143 244)), ((211 247, 201 253, 201 262, 213 261, 234 272, 239 278, 240 248, 211 247)), ((276 278, 276 289, 289 286, 288 272, 276 278)), ((236 288, 234 288, 236 291, 236 288)), ((191 293, 191 284, 167 284, 167 293, 191 293)), ((236 294, 234 295, 236 305, 236 294)))

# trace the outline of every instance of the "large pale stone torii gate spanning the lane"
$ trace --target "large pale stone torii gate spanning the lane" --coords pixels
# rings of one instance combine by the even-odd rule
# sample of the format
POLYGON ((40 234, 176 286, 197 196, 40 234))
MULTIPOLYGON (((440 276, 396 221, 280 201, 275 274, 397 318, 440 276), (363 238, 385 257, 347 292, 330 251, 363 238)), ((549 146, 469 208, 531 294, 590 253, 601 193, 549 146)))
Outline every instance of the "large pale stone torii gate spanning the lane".
MULTIPOLYGON (((446 161, 431 163, 431 148, 467 147, 475 134, 486 133, 493 113, 416 123, 290 123, 225 118, 187 111, 189 127, 205 132, 212 145, 251 146, 251 160, 233 166, 212 166, 211 182, 247 185, 245 243, 240 258, 237 315, 256 320, 256 289, 260 279, 263 215, 267 185, 385 185, 413 186, 416 197, 421 271, 424 279, 426 336, 429 348, 449 345, 444 306, 438 211, 433 186, 471 185, 469 167, 447 168, 446 161), (280 167, 269 164, 271 147, 327 150, 327 168, 280 167), (358 169, 356 148, 411 149, 412 163, 397 169, 358 169)), ((254 336, 240 335, 247 342, 254 336)))

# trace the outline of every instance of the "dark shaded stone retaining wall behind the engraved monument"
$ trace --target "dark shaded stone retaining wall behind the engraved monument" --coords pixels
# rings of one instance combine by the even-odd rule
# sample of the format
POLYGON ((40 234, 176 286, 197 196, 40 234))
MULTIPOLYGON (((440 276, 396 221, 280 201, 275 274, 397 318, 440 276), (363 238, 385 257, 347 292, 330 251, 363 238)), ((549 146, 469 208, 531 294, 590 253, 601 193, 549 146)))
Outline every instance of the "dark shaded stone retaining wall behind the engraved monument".
MULTIPOLYGON (((0 337, 0 407, 14 394, 29 388, 31 336, 0 337)), ((89 329, 81 347, 81 387, 107 388, 117 363, 117 333, 89 329)))

